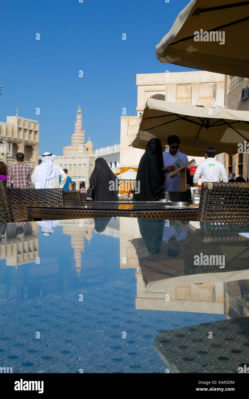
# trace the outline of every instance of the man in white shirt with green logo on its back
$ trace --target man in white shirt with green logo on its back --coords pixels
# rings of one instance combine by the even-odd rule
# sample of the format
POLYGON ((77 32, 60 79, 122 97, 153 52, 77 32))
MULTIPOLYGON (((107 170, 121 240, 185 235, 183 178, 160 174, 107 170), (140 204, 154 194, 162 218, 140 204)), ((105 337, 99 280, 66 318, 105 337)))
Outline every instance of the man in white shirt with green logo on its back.
POLYGON ((215 148, 205 148, 204 154, 205 161, 200 162, 197 166, 193 177, 193 186, 196 187, 199 176, 201 176, 201 182, 219 182, 219 176, 221 176, 223 182, 228 182, 224 165, 214 159, 216 155, 215 148))

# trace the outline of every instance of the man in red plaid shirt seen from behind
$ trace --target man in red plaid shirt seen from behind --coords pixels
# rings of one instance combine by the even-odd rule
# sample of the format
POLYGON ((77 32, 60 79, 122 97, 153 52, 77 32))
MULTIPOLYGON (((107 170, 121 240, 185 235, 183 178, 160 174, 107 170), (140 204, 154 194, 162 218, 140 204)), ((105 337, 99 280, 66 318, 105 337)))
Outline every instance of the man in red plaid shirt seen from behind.
POLYGON ((18 152, 16 160, 17 163, 9 168, 7 187, 11 187, 11 181, 13 180, 13 188, 31 188, 32 169, 23 163, 24 154, 18 152))

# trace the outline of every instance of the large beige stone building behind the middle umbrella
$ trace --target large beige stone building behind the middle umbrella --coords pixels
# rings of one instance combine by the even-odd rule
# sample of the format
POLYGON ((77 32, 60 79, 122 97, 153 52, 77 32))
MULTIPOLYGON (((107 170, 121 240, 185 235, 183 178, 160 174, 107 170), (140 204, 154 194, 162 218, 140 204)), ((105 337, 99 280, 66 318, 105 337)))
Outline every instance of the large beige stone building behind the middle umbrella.
MULTIPOLYGON (((224 106, 225 75, 207 71, 146 73, 137 75, 137 116, 122 116, 120 170, 137 170, 144 150, 129 146, 135 139, 147 98, 204 107, 224 106)), ((172 134, 177 132, 172 131, 172 134)), ((193 157, 189 156, 189 160, 193 157)), ((195 157, 198 164, 204 158, 195 157)))

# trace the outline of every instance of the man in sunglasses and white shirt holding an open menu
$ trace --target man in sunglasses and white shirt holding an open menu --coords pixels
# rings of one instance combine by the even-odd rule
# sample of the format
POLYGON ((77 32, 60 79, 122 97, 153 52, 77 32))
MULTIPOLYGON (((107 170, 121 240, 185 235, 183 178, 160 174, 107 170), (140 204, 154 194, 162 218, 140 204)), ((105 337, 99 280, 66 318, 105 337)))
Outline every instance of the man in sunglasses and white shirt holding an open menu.
POLYGON ((168 174, 175 170, 173 164, 180 158, 183 164, 188 162, 187 155, 179 151, 180 139, 178 136, 168 137, 168 148, 163 152, 163 172, 165 172, 165 182, 163 183, 163 193, 167 191, 181 191, 181 175, 170 178, 168 174))

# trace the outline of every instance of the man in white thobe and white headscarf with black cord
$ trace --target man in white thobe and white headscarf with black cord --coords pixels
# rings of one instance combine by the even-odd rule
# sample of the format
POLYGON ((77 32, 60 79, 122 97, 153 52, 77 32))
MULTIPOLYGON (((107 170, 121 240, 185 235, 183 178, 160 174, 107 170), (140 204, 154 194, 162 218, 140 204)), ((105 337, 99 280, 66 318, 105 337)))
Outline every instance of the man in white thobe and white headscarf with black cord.
POLYGON ((34 168, 31 176, 33 188, 63 188, 68 176, 64 170, 53 162, 50 152, 42 154, 42 163, 34 168), (59 177, 62 178, 59 182, 59 177))

